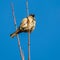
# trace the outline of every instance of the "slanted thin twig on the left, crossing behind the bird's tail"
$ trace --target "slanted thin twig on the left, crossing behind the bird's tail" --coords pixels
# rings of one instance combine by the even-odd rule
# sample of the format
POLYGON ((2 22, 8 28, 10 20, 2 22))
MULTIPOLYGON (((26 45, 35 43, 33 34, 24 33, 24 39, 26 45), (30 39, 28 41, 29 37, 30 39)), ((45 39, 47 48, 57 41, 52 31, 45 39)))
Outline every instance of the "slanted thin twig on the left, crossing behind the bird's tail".
MULTIPOLYGON (((11 3, 11 7, 12 7, 12 15, 13 15, 13 18, 14 18, 14 25, 15 25, 15 28, 17 30, 16 17, 15 17, 15 14, 14 14, 13 3, 11 3)), ((19 52, 20 52, 21 58, 22 58, 22 60, 24 60, 24 54, 23 54, 23 51, 22 51, 22 48, 21 48, 21 45, 20 45, 20 39, 19 39, 19 35, 18 34, 17 34, 17 40, 18 40, 18 48, 19 48, 19 52)))

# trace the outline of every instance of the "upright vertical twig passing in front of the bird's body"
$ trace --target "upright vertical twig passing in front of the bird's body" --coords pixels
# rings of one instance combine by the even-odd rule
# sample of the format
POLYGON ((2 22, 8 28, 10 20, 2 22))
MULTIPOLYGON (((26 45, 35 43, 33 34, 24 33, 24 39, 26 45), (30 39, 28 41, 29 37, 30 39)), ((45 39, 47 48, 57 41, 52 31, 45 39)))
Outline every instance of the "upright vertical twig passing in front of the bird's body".
MULTIPOLYGON (((29 16, 28 0, 26 0, 26 14, 28 17, 29 16)), ((28 29, 29 29, 29 19, 28 19, 28 29)), ((28 31, 28 60, 30 60, 30 30, 28 31)))

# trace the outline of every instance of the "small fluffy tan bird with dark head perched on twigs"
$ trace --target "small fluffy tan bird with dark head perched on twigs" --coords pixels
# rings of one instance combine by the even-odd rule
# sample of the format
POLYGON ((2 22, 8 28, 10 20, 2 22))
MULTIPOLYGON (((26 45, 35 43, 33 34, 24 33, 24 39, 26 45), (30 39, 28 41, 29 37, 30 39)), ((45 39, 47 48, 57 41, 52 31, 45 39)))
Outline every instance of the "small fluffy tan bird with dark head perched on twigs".
POLYGON ((15 32, 10 34, 10 36, 13 38, 14 36, 16 36, 17 34, 22 33, 22 32, 30 31, 30 33, 31 33, 35 29, 35 26, 36 26, 35 15, 30 14, 28 17, 23 18, 20 26, 17 28, 17 30, 15 32))

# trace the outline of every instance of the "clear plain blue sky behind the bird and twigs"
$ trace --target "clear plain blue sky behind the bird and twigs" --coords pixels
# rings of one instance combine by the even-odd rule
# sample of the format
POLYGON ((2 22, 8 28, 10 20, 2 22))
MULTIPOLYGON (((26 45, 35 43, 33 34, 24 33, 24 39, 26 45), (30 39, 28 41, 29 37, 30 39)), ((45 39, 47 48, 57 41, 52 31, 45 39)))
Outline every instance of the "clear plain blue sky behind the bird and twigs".
MULTIPOLYGON (((15 31, 11 2, 17 26, 26 17, 26 0, 0 0, 0 60, 21 60, 16 37, 9 36, 15 31)), ((60 60, 60 0, 29 0, 29 12, 37 22, 31 33, 31 60, 60 60)), ((19 37, 27 60, 27 33, 19 37)))

